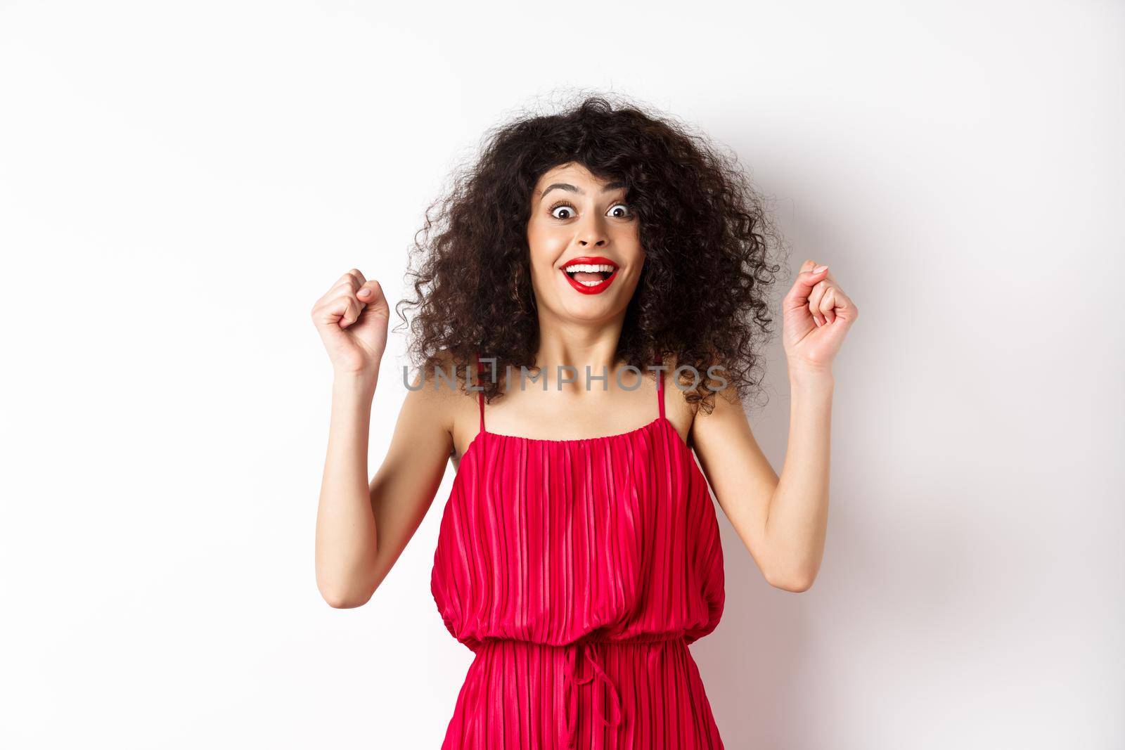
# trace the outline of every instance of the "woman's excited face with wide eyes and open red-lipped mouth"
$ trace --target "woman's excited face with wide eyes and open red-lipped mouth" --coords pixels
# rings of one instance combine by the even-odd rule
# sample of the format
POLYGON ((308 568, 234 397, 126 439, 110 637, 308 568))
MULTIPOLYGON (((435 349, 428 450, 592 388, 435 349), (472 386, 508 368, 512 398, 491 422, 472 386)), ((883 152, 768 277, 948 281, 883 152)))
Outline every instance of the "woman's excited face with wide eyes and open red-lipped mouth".
POLYGON ((596 323, 623 315, 645 251, 619 182, 602 182, 580 164, 543 173, 531 196, 528 246, 540 314, 596 323))

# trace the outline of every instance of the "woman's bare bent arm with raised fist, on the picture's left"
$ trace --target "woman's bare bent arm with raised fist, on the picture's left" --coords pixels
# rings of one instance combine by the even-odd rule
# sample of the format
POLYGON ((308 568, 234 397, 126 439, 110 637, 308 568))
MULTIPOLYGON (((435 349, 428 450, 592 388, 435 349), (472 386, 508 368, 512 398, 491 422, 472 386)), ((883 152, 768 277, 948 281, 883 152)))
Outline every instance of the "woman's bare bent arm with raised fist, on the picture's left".
POLYGON ((316 514, 316 585, 333 607, 367 603, 417 530, 451 449, 432 390, 410 391, 368 482, 371 404, 389 308, 378 282, 352 269, 313 308, 332 359, 332 416, 316 514))

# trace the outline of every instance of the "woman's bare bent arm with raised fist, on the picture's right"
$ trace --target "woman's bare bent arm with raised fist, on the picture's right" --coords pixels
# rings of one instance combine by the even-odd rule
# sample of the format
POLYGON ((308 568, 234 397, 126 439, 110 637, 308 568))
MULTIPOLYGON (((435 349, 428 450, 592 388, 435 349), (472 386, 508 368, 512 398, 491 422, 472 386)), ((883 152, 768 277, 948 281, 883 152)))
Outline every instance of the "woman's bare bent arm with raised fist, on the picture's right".
POLYGON ((790 432, 778 477, 732 389, 695 417, 700 466, 742 543, 772 586, 804 591, 824 558, 835 380, 831 361, 858 310, 806 261, 783 302, 791 386, 790 432))

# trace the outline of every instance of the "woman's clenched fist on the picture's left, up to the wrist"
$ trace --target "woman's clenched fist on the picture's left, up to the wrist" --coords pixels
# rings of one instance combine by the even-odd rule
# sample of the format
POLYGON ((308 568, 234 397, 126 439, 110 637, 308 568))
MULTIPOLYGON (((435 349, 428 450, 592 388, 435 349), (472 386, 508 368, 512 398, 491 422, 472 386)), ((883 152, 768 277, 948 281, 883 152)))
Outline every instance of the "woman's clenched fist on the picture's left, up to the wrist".
POLYGON ((352 269, 316 300, 312 316, 338 373, 375 374, 387 347, 390 319, 390 307, 378 281, 368 281, 352 269))

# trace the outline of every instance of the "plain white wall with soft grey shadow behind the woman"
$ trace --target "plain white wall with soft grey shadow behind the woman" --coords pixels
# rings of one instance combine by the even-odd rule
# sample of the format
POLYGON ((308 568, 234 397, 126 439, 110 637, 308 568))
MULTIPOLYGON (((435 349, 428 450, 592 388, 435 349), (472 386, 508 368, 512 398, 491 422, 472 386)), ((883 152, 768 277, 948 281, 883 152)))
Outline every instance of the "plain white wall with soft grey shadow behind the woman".
MULTIPOLYGON (((862 309, 814 586, 766 585, 720 514, 692 649, 727 747, 1125 746, 1123 36, 1108 1, 0 3, 0 744, 440 746, 452 470, 328 607, 308 310, 353 265, 397 301, 452 166, 580 87, 736 151, 789 271, 862 309)), ((770 389, 780 469, 776 343, 770 389)))

